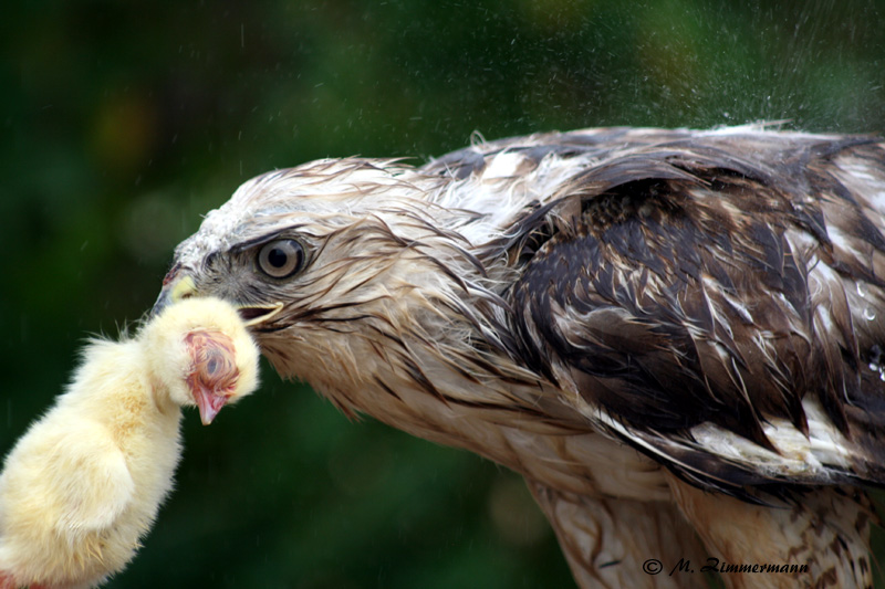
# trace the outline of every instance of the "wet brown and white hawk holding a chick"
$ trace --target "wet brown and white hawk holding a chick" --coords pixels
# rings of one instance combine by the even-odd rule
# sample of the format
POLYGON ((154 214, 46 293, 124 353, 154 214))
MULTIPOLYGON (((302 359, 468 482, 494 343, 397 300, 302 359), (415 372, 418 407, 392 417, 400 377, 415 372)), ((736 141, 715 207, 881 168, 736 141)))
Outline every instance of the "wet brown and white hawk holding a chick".
POLYGON ((581 587, 872 585, 879 138, 621 127, 313 161, 178 245, 157 307, 192 296, 345 413, 522 474, 581 587))

